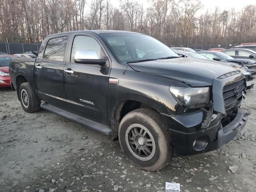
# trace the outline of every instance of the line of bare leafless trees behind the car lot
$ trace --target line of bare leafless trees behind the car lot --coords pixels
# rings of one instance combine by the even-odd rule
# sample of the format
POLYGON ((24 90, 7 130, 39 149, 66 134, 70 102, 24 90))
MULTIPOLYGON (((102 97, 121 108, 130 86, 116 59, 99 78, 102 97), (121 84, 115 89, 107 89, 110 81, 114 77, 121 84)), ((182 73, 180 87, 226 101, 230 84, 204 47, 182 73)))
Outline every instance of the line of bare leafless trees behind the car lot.
POLYGON ((199 13, 200 0, 0 0, 0 42, 38 43, 72 30, 128 30, 167 45, 256 42, 256 6, 199 13))

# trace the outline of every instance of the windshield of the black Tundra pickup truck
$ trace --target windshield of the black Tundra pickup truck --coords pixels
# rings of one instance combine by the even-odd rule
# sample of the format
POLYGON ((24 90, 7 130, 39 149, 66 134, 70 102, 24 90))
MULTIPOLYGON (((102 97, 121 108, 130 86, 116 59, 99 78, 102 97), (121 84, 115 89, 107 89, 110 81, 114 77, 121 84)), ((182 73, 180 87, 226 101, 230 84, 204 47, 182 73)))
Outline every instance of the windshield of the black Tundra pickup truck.
POLYGON ((100 34, 121 62, 156 60, 179 57, 168 46, 143 34, 100 34))

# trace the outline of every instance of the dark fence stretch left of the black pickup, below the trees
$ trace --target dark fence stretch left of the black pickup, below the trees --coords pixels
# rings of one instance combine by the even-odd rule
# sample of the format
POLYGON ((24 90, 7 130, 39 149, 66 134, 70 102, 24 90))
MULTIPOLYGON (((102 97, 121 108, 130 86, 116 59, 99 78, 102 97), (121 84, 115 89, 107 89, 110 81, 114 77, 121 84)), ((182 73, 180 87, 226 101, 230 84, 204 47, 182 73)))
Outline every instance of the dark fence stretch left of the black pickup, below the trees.
POLYGON ((25 43, 0 43, 0 52, 7 54, 18 54, 29 51, 39 50, 41 44, 25 44, 25 43))

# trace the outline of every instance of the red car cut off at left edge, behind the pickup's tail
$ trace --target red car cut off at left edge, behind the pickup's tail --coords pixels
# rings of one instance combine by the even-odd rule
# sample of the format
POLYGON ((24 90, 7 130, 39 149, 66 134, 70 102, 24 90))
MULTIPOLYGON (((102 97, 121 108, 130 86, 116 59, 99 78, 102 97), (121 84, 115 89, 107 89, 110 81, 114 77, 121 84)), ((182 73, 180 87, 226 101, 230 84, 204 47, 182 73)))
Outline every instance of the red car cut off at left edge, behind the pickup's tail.
POLYGON ((0 55, 0 88, 10 87, 9 62, 17 55, 0 55))

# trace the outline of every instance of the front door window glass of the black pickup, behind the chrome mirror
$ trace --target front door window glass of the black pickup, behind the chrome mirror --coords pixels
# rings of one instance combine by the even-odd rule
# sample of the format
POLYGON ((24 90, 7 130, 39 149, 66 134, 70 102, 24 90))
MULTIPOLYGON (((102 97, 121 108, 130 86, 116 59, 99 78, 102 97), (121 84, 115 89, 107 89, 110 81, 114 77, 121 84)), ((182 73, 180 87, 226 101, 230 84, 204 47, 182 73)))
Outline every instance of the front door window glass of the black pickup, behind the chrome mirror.
POLYGON ((72 51, 71 51, 71 58, 70 62, 74 63, 74 56, 77 51, 85 51, 85 50, 91 50, 95 51, 98 55, 98 58, 103 57, 103 52, 101 51, 100 44, 98 42, 89 36, 75 36, 74 42, 72 45, 72 51))

